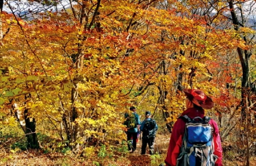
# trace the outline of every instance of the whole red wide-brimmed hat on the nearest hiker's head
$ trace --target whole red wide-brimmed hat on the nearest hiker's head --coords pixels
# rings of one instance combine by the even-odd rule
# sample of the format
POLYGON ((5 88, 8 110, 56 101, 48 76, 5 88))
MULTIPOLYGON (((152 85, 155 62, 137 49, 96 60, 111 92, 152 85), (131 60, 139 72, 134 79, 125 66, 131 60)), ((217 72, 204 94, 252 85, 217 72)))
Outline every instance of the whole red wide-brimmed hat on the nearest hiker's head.
POLYGON ((192 103, 203 109, 211 109, 214 105, 212 99, 199 89, 183 89, 183 92, 192 103))

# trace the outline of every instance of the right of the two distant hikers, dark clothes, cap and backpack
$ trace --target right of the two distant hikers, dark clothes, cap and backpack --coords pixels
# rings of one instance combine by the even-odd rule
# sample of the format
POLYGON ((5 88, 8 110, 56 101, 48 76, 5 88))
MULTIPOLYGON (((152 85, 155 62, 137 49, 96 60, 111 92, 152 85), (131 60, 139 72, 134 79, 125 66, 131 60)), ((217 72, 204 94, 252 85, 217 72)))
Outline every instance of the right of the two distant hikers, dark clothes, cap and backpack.
POLYGON ((147 144, 150 155, 154 154, 154 139, 157 131, 157 123, 151 119, 151 112, 145 112, 145 120, 141 123, 140 131, 142 132, 141 155, 146 153, 147 144), (148 128, 150 126, 150 128, 148 128))

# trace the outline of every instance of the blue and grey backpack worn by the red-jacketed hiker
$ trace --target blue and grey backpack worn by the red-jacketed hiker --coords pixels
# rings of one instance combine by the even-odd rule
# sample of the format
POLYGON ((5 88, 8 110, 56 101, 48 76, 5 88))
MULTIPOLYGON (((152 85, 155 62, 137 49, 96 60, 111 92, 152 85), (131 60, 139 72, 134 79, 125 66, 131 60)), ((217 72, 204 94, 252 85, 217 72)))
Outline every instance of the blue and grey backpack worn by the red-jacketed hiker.
POLYGON ((210 117, 191 119, 184 115, 180 118, 186 125, 177 166, 214 166, 218 157, 213 155, 213 129, 209 124, 210 117))

